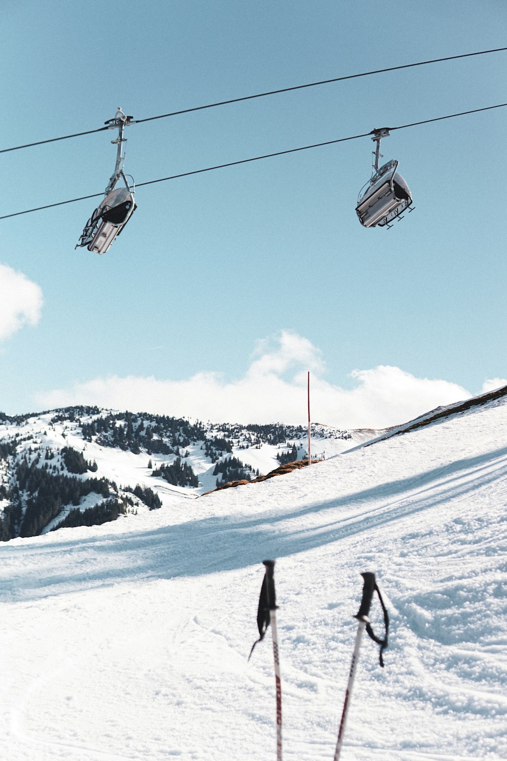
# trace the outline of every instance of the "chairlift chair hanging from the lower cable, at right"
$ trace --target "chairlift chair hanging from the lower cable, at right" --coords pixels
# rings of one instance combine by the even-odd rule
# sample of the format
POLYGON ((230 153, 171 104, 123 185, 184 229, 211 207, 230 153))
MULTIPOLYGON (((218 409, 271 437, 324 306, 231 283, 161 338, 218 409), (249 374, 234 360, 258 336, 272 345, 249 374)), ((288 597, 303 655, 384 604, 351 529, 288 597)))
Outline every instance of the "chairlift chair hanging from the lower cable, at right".
MULTIPOLYGON (((356 214, 365 228, 384 227, 407 209, 412 203, 410 188, 401 174, 399 162, 391 159, 379 168, 380 141, 388 137, 388 129, 374 129, 372 140, 376 142, 373 174, 369 183, 360 191, 356 214)), ((411 211, 411 209, 410 209, 411 211)))

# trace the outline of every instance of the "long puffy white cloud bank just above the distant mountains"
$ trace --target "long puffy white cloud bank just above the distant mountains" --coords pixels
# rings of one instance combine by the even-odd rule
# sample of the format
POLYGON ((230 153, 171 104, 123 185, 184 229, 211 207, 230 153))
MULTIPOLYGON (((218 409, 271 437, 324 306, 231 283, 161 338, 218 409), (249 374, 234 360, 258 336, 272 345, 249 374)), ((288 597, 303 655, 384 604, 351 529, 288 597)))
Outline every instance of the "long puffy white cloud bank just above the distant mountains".
POLYGON ((244 377, 227 381, 201 372, 186 380, 98 377, 37 397, 44 409, 96 404, 111 409, 187 416, 214 422, 307 421, 306 381, 310 370, 312 420, 339 428, 397 425, 471 396, 446 380, 417 378, 400 368, 355 370, 352 390, 323 380, 321 352, 290 331, 258 341, 244 377))

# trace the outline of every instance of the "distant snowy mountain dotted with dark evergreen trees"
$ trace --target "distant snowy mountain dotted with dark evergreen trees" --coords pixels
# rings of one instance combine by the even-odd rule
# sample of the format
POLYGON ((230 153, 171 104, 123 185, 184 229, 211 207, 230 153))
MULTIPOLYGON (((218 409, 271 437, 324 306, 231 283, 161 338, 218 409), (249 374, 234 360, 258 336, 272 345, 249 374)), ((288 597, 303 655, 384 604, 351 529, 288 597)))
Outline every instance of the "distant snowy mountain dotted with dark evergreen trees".
MULTIPOLYGON (((312 425, 312 457, 363 441, 361 431, 312 425)), ((146 413, 68 407, 0 413, 0 539, 96 525, 307 457, 308 430, 214 425, 146 413)))

